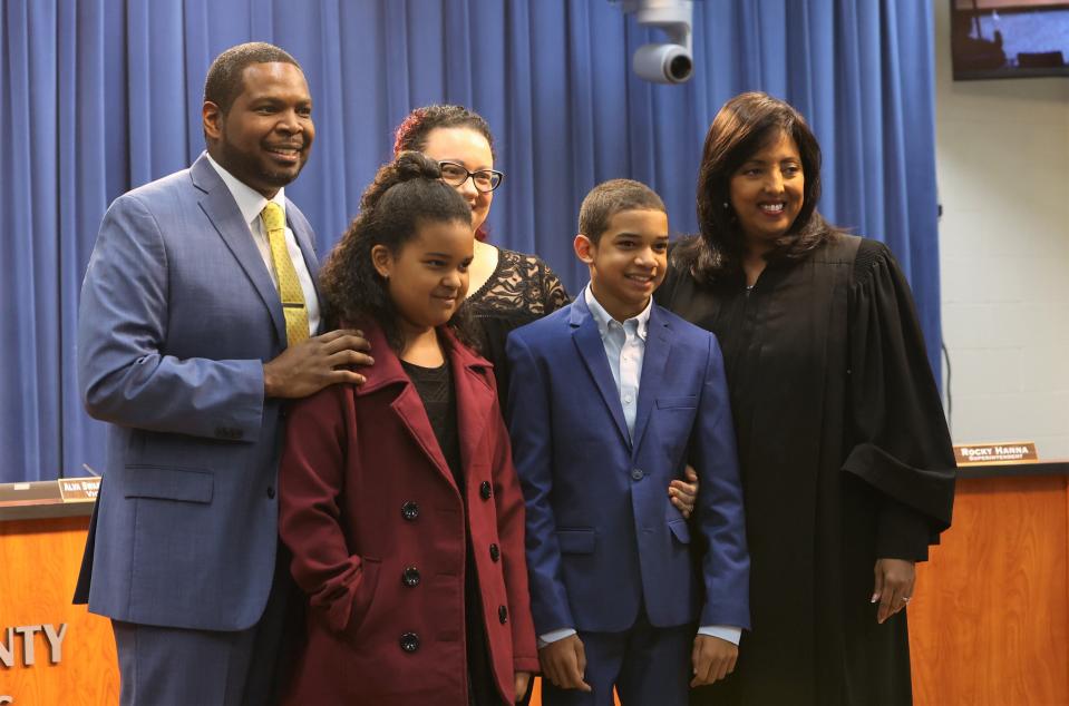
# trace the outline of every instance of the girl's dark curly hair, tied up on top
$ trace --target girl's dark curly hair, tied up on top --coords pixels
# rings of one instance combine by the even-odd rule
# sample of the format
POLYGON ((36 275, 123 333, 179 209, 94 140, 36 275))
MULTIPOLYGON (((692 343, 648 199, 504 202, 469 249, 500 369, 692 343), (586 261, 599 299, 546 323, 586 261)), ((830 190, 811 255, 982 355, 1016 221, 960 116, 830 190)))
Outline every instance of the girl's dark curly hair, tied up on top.
MULTIPOLYGON (((382 245, 397 255, 420 225, 453 222, 470 227, 472 209, 441 182, 435 160, 418 151, 402 151, 380 167, 360 198, 360 215, 331 251, 320 274, 329 321, 337 325, 370 318, 399 352, 405 342, 398 314, 388 284, 371 261, 371 249, 382 245)), ((475 341, 464 305, 447 325, 463 342, 470 345, 475 341)))

